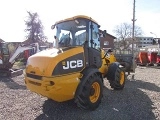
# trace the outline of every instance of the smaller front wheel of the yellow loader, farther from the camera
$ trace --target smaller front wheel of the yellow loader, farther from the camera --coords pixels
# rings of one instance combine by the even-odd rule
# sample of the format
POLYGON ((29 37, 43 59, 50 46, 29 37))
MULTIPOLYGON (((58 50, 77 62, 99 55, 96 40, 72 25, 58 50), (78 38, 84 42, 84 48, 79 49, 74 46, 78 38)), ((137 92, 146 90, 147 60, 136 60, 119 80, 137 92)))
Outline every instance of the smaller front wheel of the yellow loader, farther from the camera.
POLYGON ((109 67, 108 77, 111 88, 121 90, 125 85, 125 72, 119 67, 119 63, 115 62, 109 67))

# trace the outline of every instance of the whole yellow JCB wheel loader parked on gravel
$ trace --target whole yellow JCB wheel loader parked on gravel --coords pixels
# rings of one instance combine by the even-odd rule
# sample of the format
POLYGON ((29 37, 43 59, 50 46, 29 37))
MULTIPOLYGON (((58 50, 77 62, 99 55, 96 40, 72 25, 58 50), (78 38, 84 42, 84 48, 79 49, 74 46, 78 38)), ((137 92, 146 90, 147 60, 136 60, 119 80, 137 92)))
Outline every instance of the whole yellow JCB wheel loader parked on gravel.
POLYGON ((113 89, 123 89, 125 73, 114 55, 100 48, 100 25, 88 16, 56 22, 55 47, 28 58, 25 84, 57 102, 74 99, 78 107, 95 110, 102 99, 103 78, 113 89))

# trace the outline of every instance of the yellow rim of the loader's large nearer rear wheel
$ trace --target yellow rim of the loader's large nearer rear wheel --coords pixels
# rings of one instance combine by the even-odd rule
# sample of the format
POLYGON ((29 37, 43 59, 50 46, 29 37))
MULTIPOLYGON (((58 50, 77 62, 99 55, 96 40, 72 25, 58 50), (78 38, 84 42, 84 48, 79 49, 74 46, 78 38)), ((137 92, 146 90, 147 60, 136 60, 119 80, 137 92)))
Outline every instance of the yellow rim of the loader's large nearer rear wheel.
POLYGON ((100 95, 100 85, 98 82, 94 82, 90 90, 90 101, 92 103, 95 103, 98 100, 99 95, 100 95))

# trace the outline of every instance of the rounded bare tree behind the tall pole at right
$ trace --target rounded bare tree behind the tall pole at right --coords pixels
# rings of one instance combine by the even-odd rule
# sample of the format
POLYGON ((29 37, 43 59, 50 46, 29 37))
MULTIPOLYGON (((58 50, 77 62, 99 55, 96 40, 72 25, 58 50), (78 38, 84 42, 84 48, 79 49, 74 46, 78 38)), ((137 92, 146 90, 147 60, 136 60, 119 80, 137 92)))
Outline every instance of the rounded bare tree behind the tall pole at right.
MULTIPOLYGON (((132 43, 132 27, 132 24, 122 23, 120 25, 117 25, 113 30, 113 32, 116 34, 117 39, 119 40, 119 43, 124 48, 128 48, 132 43)), ((135 37, 141 36, 143 33, 139 26, 135 26, 134 32, 135 37)), ((135 40, 135 43, 136 42, 137 41, 135 40)))

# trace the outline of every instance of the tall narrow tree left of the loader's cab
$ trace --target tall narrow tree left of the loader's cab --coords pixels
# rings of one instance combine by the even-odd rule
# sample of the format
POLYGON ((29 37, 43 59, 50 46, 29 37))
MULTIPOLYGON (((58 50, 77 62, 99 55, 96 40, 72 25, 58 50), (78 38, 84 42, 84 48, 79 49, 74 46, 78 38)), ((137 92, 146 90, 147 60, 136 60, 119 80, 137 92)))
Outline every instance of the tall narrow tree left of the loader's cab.
POLYGON ((26 38, 32 40, 32 42, 35 42, 37 40, 47 40, 47 37, 44 35, 43 32, 44 27, 41 20, 39 19, 39 15, 37 13, 31 13, 28 11, 27 13, 28 17, 25 21, 25 32, 27 32, 26 38))

